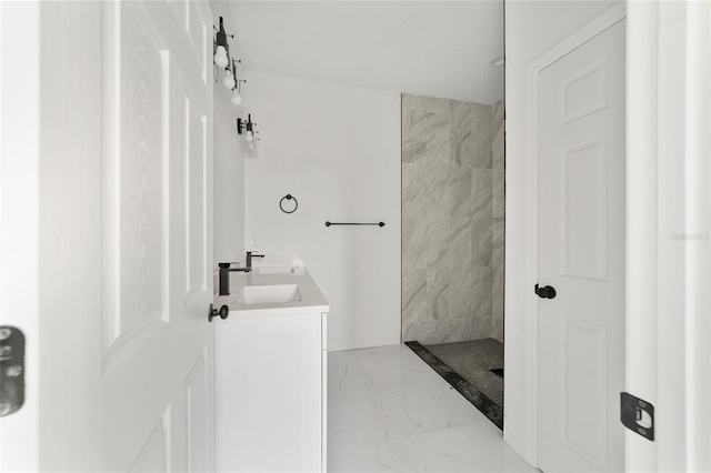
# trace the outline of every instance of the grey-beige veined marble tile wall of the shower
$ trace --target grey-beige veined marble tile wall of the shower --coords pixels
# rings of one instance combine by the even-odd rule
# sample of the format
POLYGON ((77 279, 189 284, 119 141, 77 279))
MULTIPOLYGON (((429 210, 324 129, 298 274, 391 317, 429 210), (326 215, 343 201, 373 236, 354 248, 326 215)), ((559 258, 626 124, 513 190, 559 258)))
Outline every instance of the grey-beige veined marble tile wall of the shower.
POLYGON ((503 340, 503 107, 402 95, 402 336, 503 340))

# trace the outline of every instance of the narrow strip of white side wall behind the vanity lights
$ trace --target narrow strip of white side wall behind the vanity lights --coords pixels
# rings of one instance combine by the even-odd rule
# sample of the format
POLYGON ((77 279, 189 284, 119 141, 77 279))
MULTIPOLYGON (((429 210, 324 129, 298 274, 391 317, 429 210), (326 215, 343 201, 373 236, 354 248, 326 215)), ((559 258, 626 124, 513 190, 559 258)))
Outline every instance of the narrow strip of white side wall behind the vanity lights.
MULTIPOLYGON (((232 17, 224 2, 210 2, 214 23, 224 17, 228 32, 232 17)), ((230 40, 230 53, 239 58, 237 43, 230 40)), ((238 67, 238 78, 241 78, 238 67)), ((244 256, 244 153, 239 145, 237 117, 242 107, 230 101, 230 91, 222 83, 214 84, 213 94, 213 265, 221 261, 237 261, 244 256)))

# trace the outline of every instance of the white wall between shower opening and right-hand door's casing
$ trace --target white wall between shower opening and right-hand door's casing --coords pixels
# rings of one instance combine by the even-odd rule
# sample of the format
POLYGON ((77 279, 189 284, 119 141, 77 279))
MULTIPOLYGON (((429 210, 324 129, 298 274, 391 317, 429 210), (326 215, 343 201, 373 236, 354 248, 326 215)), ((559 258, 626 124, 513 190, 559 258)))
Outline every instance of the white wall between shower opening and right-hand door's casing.
POLYGON ((537 464, 525 395, 525 299, 533 290, 525 268, 525 68, 614 1, 505 2, 505 419, 504 436, 537 464))

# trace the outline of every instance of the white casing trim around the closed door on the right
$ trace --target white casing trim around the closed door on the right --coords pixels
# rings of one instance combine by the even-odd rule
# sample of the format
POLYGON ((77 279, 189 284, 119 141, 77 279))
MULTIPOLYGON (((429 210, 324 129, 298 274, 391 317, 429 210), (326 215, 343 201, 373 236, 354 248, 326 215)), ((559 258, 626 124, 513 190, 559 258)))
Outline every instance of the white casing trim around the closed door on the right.
MULTIPOLYGON (((539 370, 538 370, 538 296, 533 293, 533 285, 538 282, 538 76, 565 54, 578 49, 592 38, 602 33, 615 23, 627 18, 627 4, 620 2, 605 10, 575 33, 541 54, 525 69, 525 281, 528 291, 525 299, 525 379, 524 405, 525 427, 522 439, 507 437, 509 443, 523 443, 522 451, 525 460, 538 466, 538 407, 539 407, 539 370), (512 442, 513 441, 513 442, 512 442)), ((505 429, 504 432, 509 431, 505 429)))

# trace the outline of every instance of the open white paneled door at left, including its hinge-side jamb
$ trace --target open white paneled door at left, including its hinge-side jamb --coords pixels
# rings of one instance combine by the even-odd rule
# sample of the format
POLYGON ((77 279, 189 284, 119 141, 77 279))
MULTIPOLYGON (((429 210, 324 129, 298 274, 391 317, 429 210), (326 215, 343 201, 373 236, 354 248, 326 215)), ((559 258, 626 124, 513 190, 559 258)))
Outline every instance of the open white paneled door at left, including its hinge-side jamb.
MULTIPOLYGON (((13 8, 3 7, 3 26, 13 8)), ((43 39, 24 53, 37 54, 41 118, 24 132, 36 131, 39 150, 2 159, 6 169, 34 159, 14 178, 34 182, 39 198, 3 199, 1 221, 4 232, 13 205, 34 202, 37 241, 14 250, 41 261, 26 281, 40 302, 32 320, 6 312, 12 294, 3 298, 2 323, 27 328, 31 363, 26 405, 0 421, 2 454, 22 455, 1 467, 212 471, 209 4, 33 8, 24 34, 43 39)))

